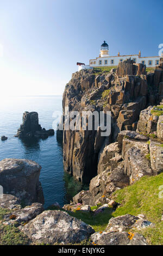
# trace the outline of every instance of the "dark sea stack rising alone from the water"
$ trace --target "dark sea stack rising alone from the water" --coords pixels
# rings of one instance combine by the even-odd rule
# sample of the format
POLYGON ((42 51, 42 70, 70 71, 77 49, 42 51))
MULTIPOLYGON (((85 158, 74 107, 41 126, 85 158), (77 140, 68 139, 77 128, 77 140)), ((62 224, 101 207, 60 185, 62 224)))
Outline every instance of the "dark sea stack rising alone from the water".
POLYGON ((42 129, 39 124, 39 116, 37 112, 24 112, 23 113, 23 124, 21 124, 20 129, 17 130, 17 137, 19 138, 48 138, 48 136, 53 136, 54 130, 42 129))

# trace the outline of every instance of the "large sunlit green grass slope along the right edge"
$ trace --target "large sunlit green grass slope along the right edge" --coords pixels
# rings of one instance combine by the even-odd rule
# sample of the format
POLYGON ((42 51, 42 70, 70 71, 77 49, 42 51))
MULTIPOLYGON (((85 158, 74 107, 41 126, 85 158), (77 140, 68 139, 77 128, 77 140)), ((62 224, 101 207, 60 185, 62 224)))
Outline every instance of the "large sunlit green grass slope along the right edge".
POLYGON ((146 228, 139 231, 151 245, 163 245, 163 198, 159 198, 159 187, 163 185, 163 173, 157 176, 144 176, 134 185, 118 190, 114 193, 114 199, 120 203, 114 217, 132 214, 143 214, 148 221, 155 224, 154 228, 146 228))

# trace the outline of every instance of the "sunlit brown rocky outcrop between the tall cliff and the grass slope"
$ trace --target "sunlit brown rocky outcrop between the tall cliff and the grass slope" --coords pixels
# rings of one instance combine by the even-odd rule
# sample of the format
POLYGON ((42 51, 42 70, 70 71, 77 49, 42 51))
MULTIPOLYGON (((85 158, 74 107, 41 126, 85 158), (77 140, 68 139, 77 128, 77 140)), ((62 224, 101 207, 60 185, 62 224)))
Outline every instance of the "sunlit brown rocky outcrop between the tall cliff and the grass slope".
POLYGON ((98 175, 90 181, 89 191, 81 191, 73 203, 108 203, 111 194, 134 184, 142 176, 163 172, 163 151, 159 141, 135 131, 121 131, 117 142, 107 145, 98 162, 98 175))

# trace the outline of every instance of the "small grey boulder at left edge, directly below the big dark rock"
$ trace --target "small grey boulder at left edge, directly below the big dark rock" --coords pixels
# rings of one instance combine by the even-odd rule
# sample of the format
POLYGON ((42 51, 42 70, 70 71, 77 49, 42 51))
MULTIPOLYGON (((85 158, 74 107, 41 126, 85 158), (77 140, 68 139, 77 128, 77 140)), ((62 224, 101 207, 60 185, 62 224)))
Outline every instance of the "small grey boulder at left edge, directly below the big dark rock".
POLYGON ((1 194, 0 207, 5 209, 19 209, 21 200, 11 194, 1 194))

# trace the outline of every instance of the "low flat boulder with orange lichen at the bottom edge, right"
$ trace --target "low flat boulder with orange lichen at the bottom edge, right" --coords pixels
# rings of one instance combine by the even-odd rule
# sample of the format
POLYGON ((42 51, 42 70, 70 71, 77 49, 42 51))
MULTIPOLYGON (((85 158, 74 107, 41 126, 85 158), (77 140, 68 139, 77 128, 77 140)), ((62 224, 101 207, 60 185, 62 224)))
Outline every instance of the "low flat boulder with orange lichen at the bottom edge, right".
POLYGON ((103 232, 91 235, 91 241, 96 245, 148 245, 145 237, 128 232, 103 232))

